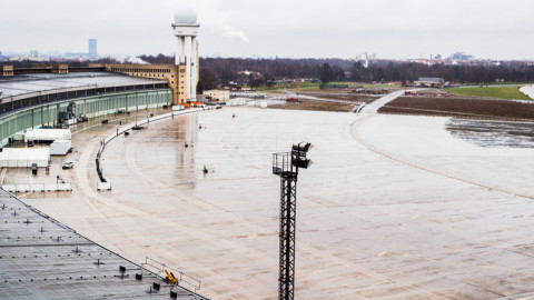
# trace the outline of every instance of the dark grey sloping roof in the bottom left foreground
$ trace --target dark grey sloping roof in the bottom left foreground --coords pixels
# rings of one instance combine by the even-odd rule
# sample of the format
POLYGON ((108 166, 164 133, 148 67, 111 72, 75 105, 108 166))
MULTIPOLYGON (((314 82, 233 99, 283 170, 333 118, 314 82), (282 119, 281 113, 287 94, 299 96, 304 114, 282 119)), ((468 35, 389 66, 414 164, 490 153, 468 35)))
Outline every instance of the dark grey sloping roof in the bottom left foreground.
POLYGON ((2 299, 169 299, 171 291, 177 299, 194 296, 188 289, 165 283, 161 277, 88 240, 2 189, 0 223, 2 299), (142 274, 142 279, 136 274, 142 274), (160 283, 157 292, 150 289, 155 282, 160 283))

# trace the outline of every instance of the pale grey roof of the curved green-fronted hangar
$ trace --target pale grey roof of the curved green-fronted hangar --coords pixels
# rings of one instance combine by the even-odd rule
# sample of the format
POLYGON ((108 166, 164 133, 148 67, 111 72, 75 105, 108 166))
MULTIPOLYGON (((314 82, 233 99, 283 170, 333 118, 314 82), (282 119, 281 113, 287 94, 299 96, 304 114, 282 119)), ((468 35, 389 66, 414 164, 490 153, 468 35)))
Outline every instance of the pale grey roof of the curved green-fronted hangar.
POLYGON ((162 79, 138 78, 111 72, 75 72, 68 74, 36 73, 0 78, 0 99, 24 93, 61 89, 107 88, 167 82, 162 79))

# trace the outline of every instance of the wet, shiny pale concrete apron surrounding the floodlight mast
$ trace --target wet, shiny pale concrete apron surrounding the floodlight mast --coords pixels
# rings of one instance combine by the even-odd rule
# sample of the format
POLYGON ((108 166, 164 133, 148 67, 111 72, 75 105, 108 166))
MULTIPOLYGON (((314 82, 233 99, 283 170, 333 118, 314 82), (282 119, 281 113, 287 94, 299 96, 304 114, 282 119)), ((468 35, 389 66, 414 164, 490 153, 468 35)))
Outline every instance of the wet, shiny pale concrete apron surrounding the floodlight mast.
POLYGON ((113 129, 95 127, 75 134, 71 193, 20 198, 134 261, 195 274, 214 299, 275 299, 271 153, 305 140, 296 298, 534 296, 534 150, 477 147, 447 120, 225 108, 150 122, 108 144, 101 192, 95 156, 113 129))

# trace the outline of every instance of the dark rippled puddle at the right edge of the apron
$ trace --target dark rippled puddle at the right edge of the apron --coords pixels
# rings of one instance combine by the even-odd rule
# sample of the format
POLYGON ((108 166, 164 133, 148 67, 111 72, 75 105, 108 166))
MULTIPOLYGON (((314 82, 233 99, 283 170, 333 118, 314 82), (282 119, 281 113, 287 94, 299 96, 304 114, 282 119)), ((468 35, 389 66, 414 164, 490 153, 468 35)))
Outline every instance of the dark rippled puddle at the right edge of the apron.
POLYGON ((534 148, 534 123, 452 119, 445 127, 453 137, 481 147, 534 148))

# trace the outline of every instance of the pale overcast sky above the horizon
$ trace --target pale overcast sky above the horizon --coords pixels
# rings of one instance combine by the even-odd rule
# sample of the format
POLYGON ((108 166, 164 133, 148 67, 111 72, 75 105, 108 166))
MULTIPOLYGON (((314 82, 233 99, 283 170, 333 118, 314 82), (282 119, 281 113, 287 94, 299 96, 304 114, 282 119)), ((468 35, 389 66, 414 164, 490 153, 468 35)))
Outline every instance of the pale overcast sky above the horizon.
POLYGON ((0 51, 171 54, 187 4, 202 57, 534 60, 532 0, 0 0, 0 51))

